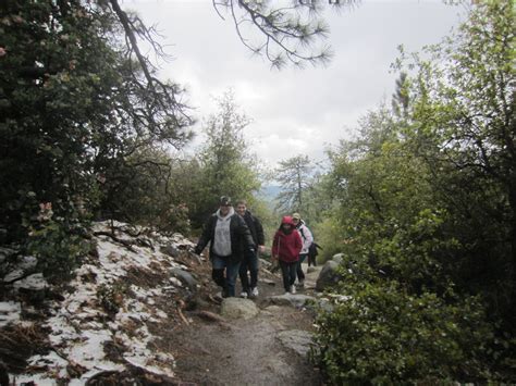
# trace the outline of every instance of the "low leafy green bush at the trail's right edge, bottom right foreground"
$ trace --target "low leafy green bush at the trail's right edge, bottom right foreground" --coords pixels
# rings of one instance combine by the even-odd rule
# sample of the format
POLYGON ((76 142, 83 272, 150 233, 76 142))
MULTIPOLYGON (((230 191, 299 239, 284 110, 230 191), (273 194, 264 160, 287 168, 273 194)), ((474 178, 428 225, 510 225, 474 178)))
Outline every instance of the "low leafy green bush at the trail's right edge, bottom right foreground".
POLYGON ((320 349, 312 352, 331 384, 434 384, 488 376, 479 357, 493 333, 478 299, 410 296, 384 279, 341 286, 351 297, 320 312, 320 349))

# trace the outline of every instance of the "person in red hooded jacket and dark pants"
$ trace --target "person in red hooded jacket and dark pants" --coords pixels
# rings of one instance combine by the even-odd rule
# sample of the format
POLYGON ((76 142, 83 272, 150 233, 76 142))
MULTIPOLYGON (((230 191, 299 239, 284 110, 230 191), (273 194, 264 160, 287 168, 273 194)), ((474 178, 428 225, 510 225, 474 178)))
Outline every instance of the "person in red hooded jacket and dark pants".
POLYGON ((302 249, 303 240, 300 235, 295 228, 292 217, 285 215, 272 241, 272 259, 280 260, 285 292, 296 292, 294 282, 296 281, 297 261, 299 260, 302 249))

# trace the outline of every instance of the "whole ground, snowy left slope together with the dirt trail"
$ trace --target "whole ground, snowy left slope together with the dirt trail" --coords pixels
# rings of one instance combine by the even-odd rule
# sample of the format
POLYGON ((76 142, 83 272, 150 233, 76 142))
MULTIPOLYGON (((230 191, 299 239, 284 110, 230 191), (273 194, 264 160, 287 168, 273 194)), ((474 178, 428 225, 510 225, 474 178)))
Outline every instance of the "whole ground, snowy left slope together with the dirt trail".
POLYGON ((262 261, 257 298, 221 299, 179 234, 98 223, 94 241, 60 286, 0 250, 1 386, 321 384, 307 359, 319 267, 284 295, 262 261))

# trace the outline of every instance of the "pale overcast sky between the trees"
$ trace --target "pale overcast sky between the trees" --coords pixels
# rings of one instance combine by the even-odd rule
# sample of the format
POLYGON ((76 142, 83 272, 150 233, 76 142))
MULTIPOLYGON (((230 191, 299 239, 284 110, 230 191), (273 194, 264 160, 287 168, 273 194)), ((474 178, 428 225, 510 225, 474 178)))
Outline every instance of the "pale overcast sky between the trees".
MULTIPOLYGON (((319 0, 324 1, 324 0, 319 0)), ((325 67, 271 70, 239 41, 232 22, 211 0, 124 0, 147 25, 157 25, 174 60, 162 76, 184 85, 199 123, 216 110, 213 97, 232 88, 253 119, 245 129, 265 165, 297 154, 322 160, 323 151, 351 138, 357 120, 390 101, 397 74, 390 64, 397 46, 407 52, 437 43, 456 27, 460 8, 440 0, 363 0, 359 7, 327 12, 334 58, 325 67)), ((201 138, 201 137, 199 137, 201 138)), ((197 139, 189 149, 198 146, 197 139)))

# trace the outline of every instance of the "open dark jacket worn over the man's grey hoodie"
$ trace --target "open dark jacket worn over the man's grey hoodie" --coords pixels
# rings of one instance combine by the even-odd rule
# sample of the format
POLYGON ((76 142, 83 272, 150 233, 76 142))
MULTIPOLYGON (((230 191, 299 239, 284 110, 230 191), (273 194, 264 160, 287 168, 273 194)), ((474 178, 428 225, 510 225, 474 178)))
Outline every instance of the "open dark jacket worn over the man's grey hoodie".
MULTIPOLYGON (((202 249, 212 241, 214 238, 214 231, 217 225, 217 214, 212 214, 206 222, 202 234, 197 241, 195 250, 200 253, 202 249)), ((233 214, 230 220, 230 235, 231 235, 231 257, 232 262, 239 262, 244 258, 245 253, 254 253, 256 250, 253 236, 249 228, 247 227, 244 219, 238 214, 233 214)), ((212 253, 213 242, 210 244, 210 254, 212 253)))

